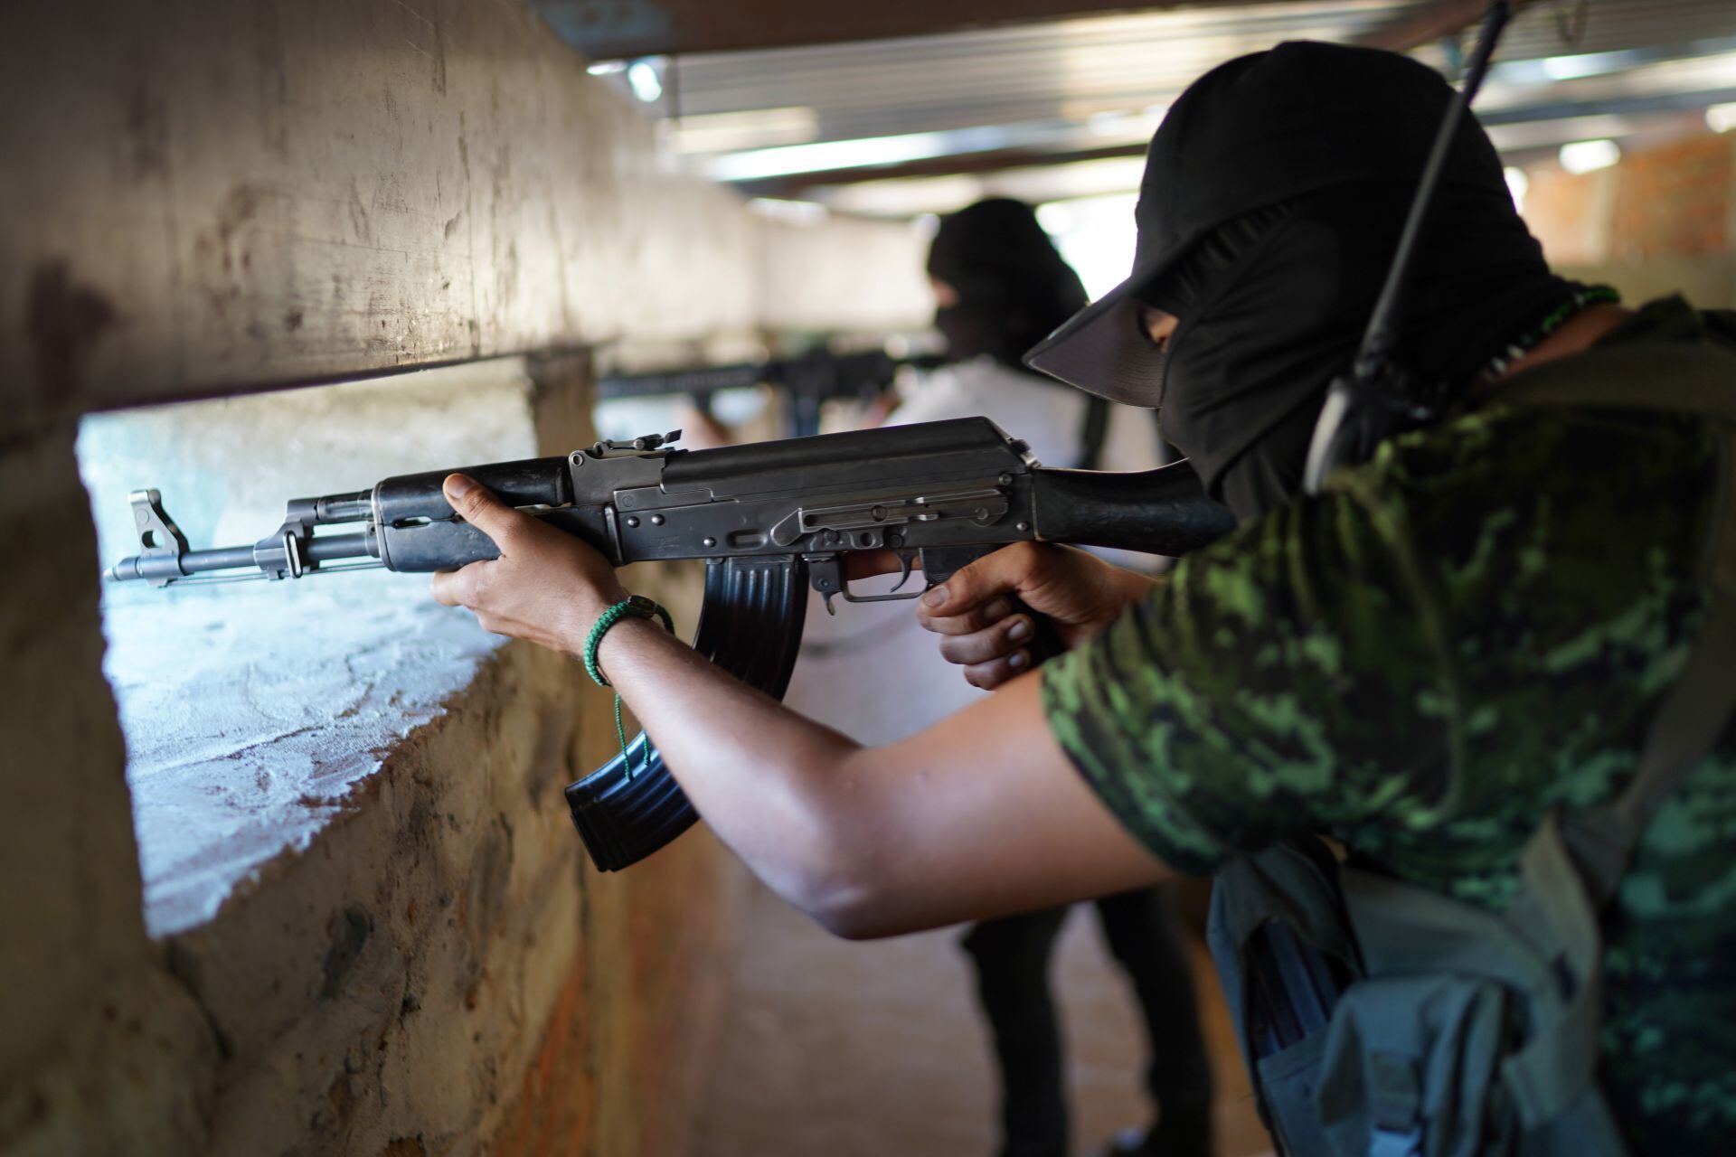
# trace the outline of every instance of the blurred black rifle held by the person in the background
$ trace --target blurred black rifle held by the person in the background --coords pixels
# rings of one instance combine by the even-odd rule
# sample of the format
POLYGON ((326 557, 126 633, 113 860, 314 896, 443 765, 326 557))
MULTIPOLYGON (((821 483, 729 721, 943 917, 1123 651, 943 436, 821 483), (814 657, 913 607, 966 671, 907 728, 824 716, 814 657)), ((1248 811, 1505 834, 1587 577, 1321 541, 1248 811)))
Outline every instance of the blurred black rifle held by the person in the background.
POLYGON ((620 397, 687 395, 701 411, 710 411, 719 390, 771 385, 788 399, 786 435, 819 434, 819 408, 833 399, 873 402, 889 389, 904 366, 934 369, 943 357, 922 354, 892 357, 882 350, 866 354, 804 354, 773 361, 672 369, 668 373, 611 373, 597 380, 597 401, 620 397))

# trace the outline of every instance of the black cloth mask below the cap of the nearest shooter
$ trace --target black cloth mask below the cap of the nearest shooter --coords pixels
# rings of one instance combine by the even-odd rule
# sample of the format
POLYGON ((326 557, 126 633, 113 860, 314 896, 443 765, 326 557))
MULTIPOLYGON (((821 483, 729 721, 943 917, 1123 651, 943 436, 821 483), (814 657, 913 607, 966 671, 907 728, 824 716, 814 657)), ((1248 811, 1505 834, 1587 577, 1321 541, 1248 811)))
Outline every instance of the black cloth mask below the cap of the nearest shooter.
MULTIPOLYGON (((1302 484, 1326 387, 1356 356, 1415 189, 1358 184, 1231 222, 1141 298, 1175 314, 1161 359, 1163 428, 1238 519, 1302 484)), ((1498 189, 1446 187, 1417 264, 1401 354, 1463 387, 1569 300, 1498 189)))

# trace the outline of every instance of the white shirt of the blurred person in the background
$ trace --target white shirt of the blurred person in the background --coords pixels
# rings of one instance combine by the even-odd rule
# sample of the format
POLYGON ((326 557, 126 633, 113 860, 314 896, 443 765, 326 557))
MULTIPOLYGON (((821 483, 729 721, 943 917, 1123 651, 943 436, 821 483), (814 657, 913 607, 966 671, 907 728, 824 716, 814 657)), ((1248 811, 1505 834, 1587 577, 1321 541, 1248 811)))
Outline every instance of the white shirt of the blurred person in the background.
MULTIPOLYGON (((984 416, 1031 446, 1045 467, 1076 467, 1088 399, 1080 390, 1010 369, 991 357, 946 366, 918 380, 887 425, 984 416)), ((1101 470, 1160 465, 1151 411, 1111 406, 1101 470)), ((1106 552, 1108 553, 1108 552, 1106 552)), ((1149 559, 1127 555, 1127 560, 1149 559)), ((1118 557, 1118 562, 1123 559, 1118 557)), ((896 576, 852 583, 858 593, 884 593, 896 576)), ((913 576, 904 590, 922 590, 913 576)), ((939 637, 917 624, 913 602, 851 604, 835 598, 828 616, 819 597, 807 607, 802 656, 785 703, 863 744, 885 744, 958 711, 986 692, 963 670, 941 659, 939 637)))

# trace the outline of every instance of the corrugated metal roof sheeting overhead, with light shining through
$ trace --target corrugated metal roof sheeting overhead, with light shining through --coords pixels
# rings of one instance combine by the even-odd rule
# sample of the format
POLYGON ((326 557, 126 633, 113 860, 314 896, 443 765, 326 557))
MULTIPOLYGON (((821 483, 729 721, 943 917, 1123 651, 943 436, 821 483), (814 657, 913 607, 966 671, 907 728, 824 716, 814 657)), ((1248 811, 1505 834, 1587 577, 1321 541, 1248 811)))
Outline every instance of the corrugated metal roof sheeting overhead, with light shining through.
MULTIPOLYGON (((651 66, 661 94, 648 109, 670 121, 675 147, 762 189, 804 170, 812 186, 812 173, 849 170, 856 158, 849 147, 757 153, 773 146, 910 139, 863 151, 865 163, 920 160, 934 170, 948 154, 1005 153, 1028 165, 1137 146, 1180 88, 1234 56, 1279 40, 1358 40, 1429 7, 1292 0, 660 59, 651 66)), ((1418 56, 1448 68, 1451 52, 1429 45, 1418 56)), ((1703 109, 1736 99, 1736 2, 1545 0, 1519 14, 1498 62, 1481 108, 1514 127, 1503 130, 1514 147, 1552 141, 1538 118, 1559 121, 1559 139, 1576 123, 1654 128, 1696 101, 1703 109)))

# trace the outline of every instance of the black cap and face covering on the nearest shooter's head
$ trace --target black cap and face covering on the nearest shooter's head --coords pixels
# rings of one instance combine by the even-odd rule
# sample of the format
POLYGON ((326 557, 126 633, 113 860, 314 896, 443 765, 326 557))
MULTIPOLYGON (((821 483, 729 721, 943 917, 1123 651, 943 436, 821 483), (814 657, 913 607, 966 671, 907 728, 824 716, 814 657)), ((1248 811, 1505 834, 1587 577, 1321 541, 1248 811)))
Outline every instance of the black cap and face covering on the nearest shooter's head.
MULTIPOLYGON (((1151 141, 1127 281, 1026 356, 1167 437, 1240 519, 1302 484, 1453 90, 1373 49, 1281 43, 1194 82, 1151 141), (1165 356, 1139 304, 1179 319, 1165 356)), ((1399 356, 1463 387, 1576 286, 1550 274, 1481 125, 1460 123, 1418 253, 1399 356)))

